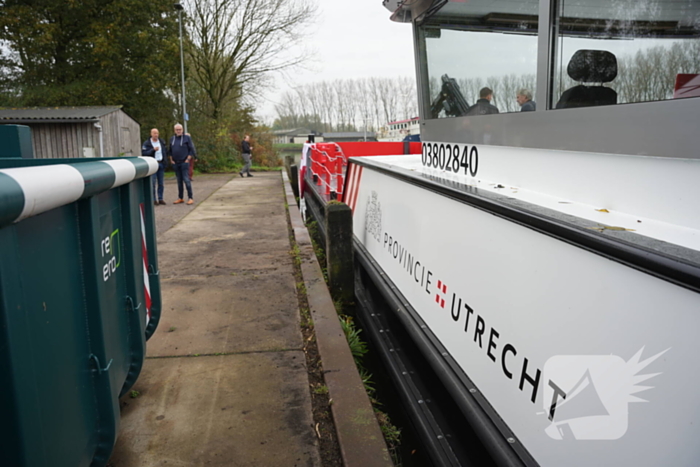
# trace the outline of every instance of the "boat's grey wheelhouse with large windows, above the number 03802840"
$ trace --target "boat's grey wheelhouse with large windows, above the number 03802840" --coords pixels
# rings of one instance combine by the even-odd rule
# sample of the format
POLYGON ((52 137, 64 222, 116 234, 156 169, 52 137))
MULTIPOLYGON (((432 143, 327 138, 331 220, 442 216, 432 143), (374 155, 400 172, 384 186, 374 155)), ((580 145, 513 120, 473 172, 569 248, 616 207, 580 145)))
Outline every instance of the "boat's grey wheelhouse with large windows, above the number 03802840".
POLYGON ((400 5, 393 19, 414 28, 423 140, 698 157, 697 0, 400 5), (484 87, 499 115, 464 117, 451 94, 472 106, 484 87), (520 112, 523 89, 535 112, 520 112))

